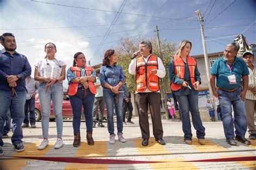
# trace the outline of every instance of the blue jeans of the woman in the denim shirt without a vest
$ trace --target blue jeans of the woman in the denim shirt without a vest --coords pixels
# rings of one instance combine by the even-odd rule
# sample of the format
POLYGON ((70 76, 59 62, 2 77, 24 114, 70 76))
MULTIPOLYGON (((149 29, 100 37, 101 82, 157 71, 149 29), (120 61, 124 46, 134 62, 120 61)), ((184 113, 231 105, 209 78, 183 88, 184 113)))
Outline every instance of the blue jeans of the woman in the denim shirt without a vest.
POLYGON ((109 134, 114 134, 114 121, 113 113, 114 107, 117 115, 117 135, 123 134, 123 99, 124 93, 119 93, 118 95, 112 93, 111 90, 103 90, 104 102, 107 108, 107 130, 109 134), (118 96, 118 103, 117 103, 118 96))

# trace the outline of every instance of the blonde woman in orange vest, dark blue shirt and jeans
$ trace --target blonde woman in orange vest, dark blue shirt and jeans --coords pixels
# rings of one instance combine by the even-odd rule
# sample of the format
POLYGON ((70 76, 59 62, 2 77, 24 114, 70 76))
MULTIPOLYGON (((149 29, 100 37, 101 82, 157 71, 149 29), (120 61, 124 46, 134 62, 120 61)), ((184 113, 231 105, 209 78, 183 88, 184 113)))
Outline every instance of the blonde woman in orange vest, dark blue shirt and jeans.
POLYGON ((179 42, 176 56, 169 65, 169 78, 172 94, 176 96, 180 109, 182 129, 185 143, 192 144, 190 115, 197 138, 201 145, 205 145, 205 128, 202 124, 198 109, 198 88, 201 83, 197 62, 191 56, 192 43, 188 40, 179 42))

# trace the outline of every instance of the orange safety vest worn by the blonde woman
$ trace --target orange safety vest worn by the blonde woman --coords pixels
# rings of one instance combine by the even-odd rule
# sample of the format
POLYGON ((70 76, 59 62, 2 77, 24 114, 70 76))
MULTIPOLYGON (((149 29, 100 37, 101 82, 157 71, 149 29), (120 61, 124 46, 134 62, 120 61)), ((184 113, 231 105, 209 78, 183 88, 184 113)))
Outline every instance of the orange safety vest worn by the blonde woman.
MULTIPOLYGON (((174 72, 176 76, 184 80, 185 63, 180 58, 180 56, 174 56, 173 66, 174 66, 174 72)), ((191 56, 187 56, 187 66, 188 66, 188 69, 190 70, 190 81, 193 84, 194 82, 196 82, 196 80, 194 80, 194 70, 197 67, 197 61, 194 60, 191 56)), ((173 91, 177 91, 180 88, 181 88, 181 84, 171 83, 171 89, 173 91)), ((194 86, 192 86, 192 88, 194 89, 194 86)))

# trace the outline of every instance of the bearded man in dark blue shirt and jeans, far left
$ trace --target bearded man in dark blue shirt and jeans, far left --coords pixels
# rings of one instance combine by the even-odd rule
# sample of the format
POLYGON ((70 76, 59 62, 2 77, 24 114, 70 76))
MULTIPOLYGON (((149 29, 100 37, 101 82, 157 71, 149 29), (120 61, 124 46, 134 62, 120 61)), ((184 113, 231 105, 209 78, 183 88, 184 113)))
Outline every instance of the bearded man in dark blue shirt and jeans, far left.
POLYGON ((0 155, 3 155, 3 129, 6 113, 10 108, 12 122, 12 145, 16 152, 24 151, 22 144, 22 122, 26 100, 25 79, 31 75, 31 67, 25 55, 15 51, 14 34, 4 33, 1 36, 4 49, 0 51, 0 155))

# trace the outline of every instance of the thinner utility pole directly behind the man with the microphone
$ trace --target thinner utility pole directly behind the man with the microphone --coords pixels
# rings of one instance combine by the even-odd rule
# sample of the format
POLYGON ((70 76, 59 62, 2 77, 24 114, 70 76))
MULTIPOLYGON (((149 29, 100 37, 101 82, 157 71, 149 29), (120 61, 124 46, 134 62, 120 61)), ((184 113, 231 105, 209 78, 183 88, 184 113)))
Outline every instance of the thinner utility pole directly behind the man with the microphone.
MULTIPOLYGON (((163 61, 163 56, 162 56, 162 52, 161 52, 160 39, 159 39, 158 31, 159 30, 158 30, 158 27, 156 25, 157 41, 158 41, 158 48, 159 48, 159 55, 160 55, 159 57, 163 61)), ((168 108, 167 108, 167 97, 166 97, 166 86, 165 86, 165 82, 164 82, 163 78, 161 78, 161 81, 162 81, 163 86, 160 87, 160 91, 163 91, 163 93, 164 93, 165 119, 169 120, 169 111, 168 111, 168 108)))

